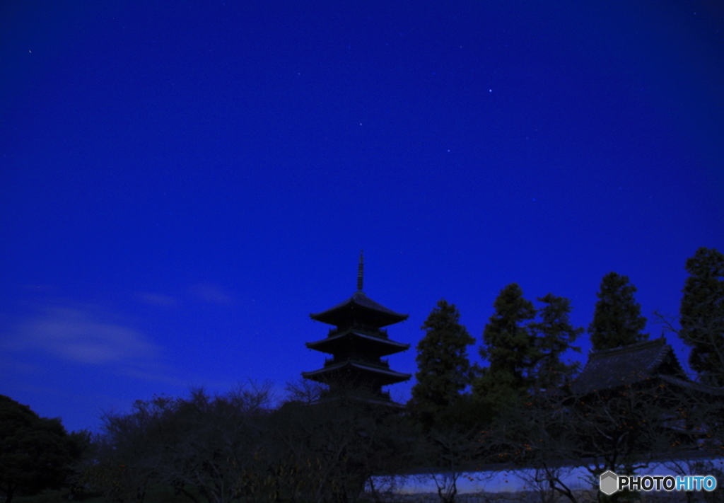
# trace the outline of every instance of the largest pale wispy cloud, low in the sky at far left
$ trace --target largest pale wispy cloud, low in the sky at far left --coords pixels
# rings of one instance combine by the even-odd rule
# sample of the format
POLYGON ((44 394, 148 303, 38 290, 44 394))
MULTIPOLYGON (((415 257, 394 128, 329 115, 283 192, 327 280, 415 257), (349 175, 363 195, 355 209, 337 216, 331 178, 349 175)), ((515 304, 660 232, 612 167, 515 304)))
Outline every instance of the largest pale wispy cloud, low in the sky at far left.
POLYGON ((90 365, 148 361, 160 352, 139 331, 104 319, 92 307, 48 307, 19 323, 4 346, 90 365))

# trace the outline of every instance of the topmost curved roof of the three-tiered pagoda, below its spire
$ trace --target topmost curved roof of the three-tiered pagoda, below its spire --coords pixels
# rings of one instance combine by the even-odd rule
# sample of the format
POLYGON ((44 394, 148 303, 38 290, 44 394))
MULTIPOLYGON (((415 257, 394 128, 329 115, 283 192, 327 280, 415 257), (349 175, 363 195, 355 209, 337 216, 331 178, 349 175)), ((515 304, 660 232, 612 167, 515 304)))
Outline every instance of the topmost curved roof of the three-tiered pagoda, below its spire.
POLYGON ((353 296, 344 302, 340 302, 340 304, 330 307, 326 311, 313 313, 309 317, 312 320, 338 327, 358 322, 380 328, 407 320, 408 315, 401 315, 399 312, 387 309, 387 307, 374 302, 362 291, 356 291, 353 296))

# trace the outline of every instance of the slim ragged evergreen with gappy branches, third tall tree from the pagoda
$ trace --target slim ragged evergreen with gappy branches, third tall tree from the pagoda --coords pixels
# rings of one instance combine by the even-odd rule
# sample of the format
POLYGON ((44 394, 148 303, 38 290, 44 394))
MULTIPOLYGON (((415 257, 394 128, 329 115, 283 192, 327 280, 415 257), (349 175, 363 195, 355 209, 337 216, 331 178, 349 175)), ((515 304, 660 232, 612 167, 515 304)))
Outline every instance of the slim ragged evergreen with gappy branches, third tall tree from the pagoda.
POLYGON ((571 301, 565 297, 547 294, 538 299, 544 306, 538 311, 539 321, 529 324, 536 336, 539 360, 536 363, 536 388, 550 389, 562 386, 580 365, 564 363, 560 358, 568 351, 581 352, 581 348, 571 346, 584 332, 583 327, 571 325, 571 301))

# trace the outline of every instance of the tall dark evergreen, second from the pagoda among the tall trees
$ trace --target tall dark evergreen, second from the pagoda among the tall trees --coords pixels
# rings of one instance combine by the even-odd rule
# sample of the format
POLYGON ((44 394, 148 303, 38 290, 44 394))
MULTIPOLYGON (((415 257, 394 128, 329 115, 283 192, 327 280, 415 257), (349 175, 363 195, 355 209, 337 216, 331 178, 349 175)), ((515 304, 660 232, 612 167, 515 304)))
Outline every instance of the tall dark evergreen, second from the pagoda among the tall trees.
POLYGON ((533 384, 533 367, 539 359, 535 336, 526 326, 536 309, 523 298, 516 283, 500 291, 493 304, 494 314, 483 331, 480 355, 489 367, 473 384, 473 394, 493 409, 505 407, 527 394, 533 384))

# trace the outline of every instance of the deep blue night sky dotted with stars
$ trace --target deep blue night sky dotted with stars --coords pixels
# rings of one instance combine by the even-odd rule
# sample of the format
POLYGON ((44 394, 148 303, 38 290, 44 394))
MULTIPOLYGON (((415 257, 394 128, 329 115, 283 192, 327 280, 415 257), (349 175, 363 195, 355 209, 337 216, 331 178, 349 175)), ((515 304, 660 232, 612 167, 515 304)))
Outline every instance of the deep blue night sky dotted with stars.
POLYGON ((724 7, 3 1, 0 233, 0 394, 69 430, 190 386, 282 396, 361 249, 410 315, 400 372, 443 297, 480 361, 512 282, 587 327, 628 275, 658 337, 686 259, 724 251, 724 7))

